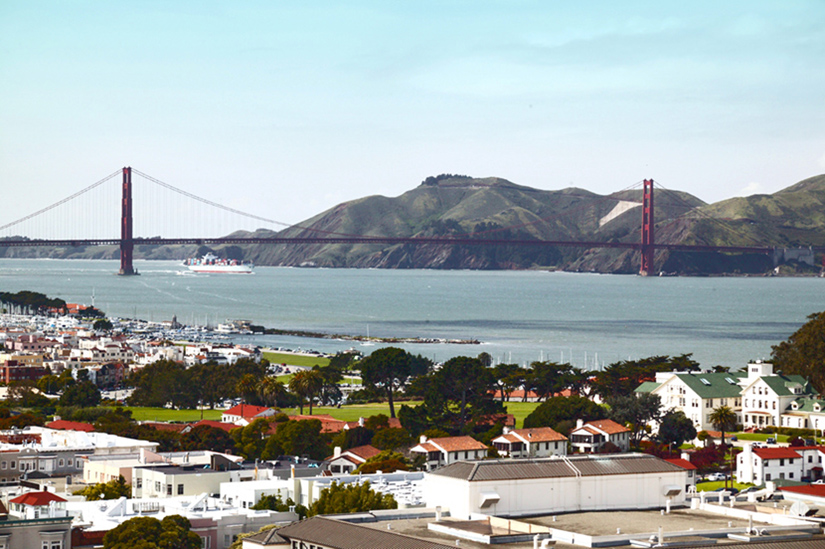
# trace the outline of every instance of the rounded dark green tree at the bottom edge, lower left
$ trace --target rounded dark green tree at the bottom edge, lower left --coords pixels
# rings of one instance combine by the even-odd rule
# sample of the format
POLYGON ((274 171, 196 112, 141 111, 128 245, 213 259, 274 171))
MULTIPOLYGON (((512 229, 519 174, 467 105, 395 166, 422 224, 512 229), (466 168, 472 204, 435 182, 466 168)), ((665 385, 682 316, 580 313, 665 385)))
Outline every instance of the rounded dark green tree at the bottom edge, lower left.
POLYGON ((200 549, 201 538, 189 520, 171 515, 163 520, 135 517, 106 532, 104 549, 200 549))

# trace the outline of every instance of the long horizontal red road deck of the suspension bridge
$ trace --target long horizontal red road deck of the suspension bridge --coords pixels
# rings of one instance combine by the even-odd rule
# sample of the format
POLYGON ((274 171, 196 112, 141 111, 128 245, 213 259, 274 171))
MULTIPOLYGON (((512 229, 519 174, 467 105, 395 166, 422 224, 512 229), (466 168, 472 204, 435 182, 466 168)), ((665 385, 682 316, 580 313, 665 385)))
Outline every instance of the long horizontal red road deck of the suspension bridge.
MULTIPOLYGON (((119 238, 99 238, 82 240, 27 240, 27 239, 0 239, 0 247, 28 247, 28 246, 119 246, 119 238)), ((164 246, 173 244, 437 244, 460 246, 553 246, 574 248, 621 248, 640 250, 641 243, 634 242, 591 242, 591 241, 564 241, 564 240, 505 240, 489 238, 445 238, 445 237, 383 237, 383 236, 324 236, 324 237, 270 237, 270 238, 135 238, 135 246, 164 246)), ((684 252, 723 252, 723 253, 773 253, 771 246, 709 246, 703 244, 653 244, 659 250, 684 252)), ((825 246, 813 247, 815 252, 825 252, 825 246)))

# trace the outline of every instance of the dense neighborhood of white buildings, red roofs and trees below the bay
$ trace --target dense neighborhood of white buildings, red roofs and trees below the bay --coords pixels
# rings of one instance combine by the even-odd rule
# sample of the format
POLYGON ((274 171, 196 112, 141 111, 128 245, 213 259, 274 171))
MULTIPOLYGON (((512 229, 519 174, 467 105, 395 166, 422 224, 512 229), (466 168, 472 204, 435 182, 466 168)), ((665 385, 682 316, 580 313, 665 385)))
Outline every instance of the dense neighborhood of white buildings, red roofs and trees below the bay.
MULTIPOLYGON (((708 539, 818 539, 806 516, 825 503, 825 401, 769 362, 583 372, 384 347, 294 354, 318 363, 301 366, 231 343, 242 322, 218 335, 100 320, 2 317, 0 547, 126 547, 147 532, 210 549, 609 546, 644 536, 556 516, 630 510, 728 525, 708 539), (335 417, 365 403, 385 412, 335 417), (201 419, 136 421, 141 406, 201 419)), ((691 531, 665 530, 643 529, 691 531)))

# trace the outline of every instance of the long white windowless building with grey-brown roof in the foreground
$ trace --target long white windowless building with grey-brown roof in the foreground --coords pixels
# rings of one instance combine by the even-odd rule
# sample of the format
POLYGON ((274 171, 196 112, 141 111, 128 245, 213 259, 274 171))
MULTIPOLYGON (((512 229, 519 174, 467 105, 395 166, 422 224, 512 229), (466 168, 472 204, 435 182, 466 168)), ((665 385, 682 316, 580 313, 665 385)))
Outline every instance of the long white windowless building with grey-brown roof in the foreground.
POLYGON ((427 507, 460 519, 684 503, 687 471, 646 454, 459 462, 427 473, 427 507))

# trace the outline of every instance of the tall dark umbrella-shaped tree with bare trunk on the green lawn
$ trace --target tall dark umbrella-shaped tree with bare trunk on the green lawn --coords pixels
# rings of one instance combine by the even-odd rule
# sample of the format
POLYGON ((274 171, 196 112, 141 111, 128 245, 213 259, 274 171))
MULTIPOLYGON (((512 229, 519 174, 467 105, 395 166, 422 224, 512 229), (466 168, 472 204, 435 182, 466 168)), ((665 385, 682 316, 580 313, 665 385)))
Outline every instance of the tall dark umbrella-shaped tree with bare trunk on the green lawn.
POLYGON ((430 361, 421 355, 413 356, 397 347, 378 349, 358 365, 364 384, 387 398, 393 418, 393 394, 406 387, 411 378, 426 374, 430 366, 430 361))

